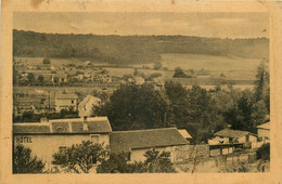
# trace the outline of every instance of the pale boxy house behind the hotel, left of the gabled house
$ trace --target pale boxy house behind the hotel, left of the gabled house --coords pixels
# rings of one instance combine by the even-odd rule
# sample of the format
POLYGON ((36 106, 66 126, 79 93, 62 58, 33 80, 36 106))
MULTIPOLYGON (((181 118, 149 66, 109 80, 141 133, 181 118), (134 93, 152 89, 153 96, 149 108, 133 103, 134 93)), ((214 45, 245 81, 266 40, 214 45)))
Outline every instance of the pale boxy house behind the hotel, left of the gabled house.
POLYGON ((61 111, 62 109, 74 108, 77 110, 77 100, 76 94, 56 94, 55 95, 55 110, 61 111))

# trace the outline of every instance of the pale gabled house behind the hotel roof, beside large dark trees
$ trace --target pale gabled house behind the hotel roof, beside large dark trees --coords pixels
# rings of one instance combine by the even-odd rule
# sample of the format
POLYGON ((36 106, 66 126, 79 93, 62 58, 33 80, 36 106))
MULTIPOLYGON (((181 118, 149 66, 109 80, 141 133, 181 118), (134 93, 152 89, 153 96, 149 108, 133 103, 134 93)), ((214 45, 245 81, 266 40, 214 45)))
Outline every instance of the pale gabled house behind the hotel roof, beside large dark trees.
POLYGON ((84 101, 81 101, 78 104, 78 115, 79 117, 84 117, 84 116, 91 116, 92 113, 92 107, 93 105, 99 105, 101 104, 101 98, 99 97, 94 97, 91 95, 87 95, 86 98, 84 98, 84 101))

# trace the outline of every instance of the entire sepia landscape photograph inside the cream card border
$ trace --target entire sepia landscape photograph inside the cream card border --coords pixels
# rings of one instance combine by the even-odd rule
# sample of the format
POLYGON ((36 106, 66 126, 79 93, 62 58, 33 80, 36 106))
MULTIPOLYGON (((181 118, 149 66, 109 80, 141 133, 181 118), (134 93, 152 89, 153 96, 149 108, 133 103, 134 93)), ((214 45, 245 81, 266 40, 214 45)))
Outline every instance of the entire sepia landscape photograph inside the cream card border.
POLYGON ((270 171, 267 12, 14 12, 12 169, 270 171))

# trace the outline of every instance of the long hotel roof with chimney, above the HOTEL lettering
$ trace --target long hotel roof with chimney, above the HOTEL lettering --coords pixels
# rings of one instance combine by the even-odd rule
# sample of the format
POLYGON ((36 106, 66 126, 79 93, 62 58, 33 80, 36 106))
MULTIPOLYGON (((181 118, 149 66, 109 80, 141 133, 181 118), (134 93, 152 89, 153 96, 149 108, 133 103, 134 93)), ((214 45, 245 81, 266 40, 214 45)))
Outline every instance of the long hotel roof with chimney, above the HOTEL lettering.
POLYGON ((112 132, 111 124, 106 117, 88 118, 84 122, 82 118, 56 119, 49 122, 36 123, 14 123, 15 134, 37 134, 37 133, 108 133, 112 132), (84 124, 87 129, 84 130, 84 124))

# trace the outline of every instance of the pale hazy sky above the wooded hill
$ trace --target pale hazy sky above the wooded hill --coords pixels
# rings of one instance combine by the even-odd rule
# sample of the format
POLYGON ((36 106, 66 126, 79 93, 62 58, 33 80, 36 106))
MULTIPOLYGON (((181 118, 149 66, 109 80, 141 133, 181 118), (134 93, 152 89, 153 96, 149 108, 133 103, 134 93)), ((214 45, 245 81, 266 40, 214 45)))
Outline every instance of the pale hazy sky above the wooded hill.
POLYGON ((267 13, 15 12, 13 27, 51 34, 269 37, 267 13))

